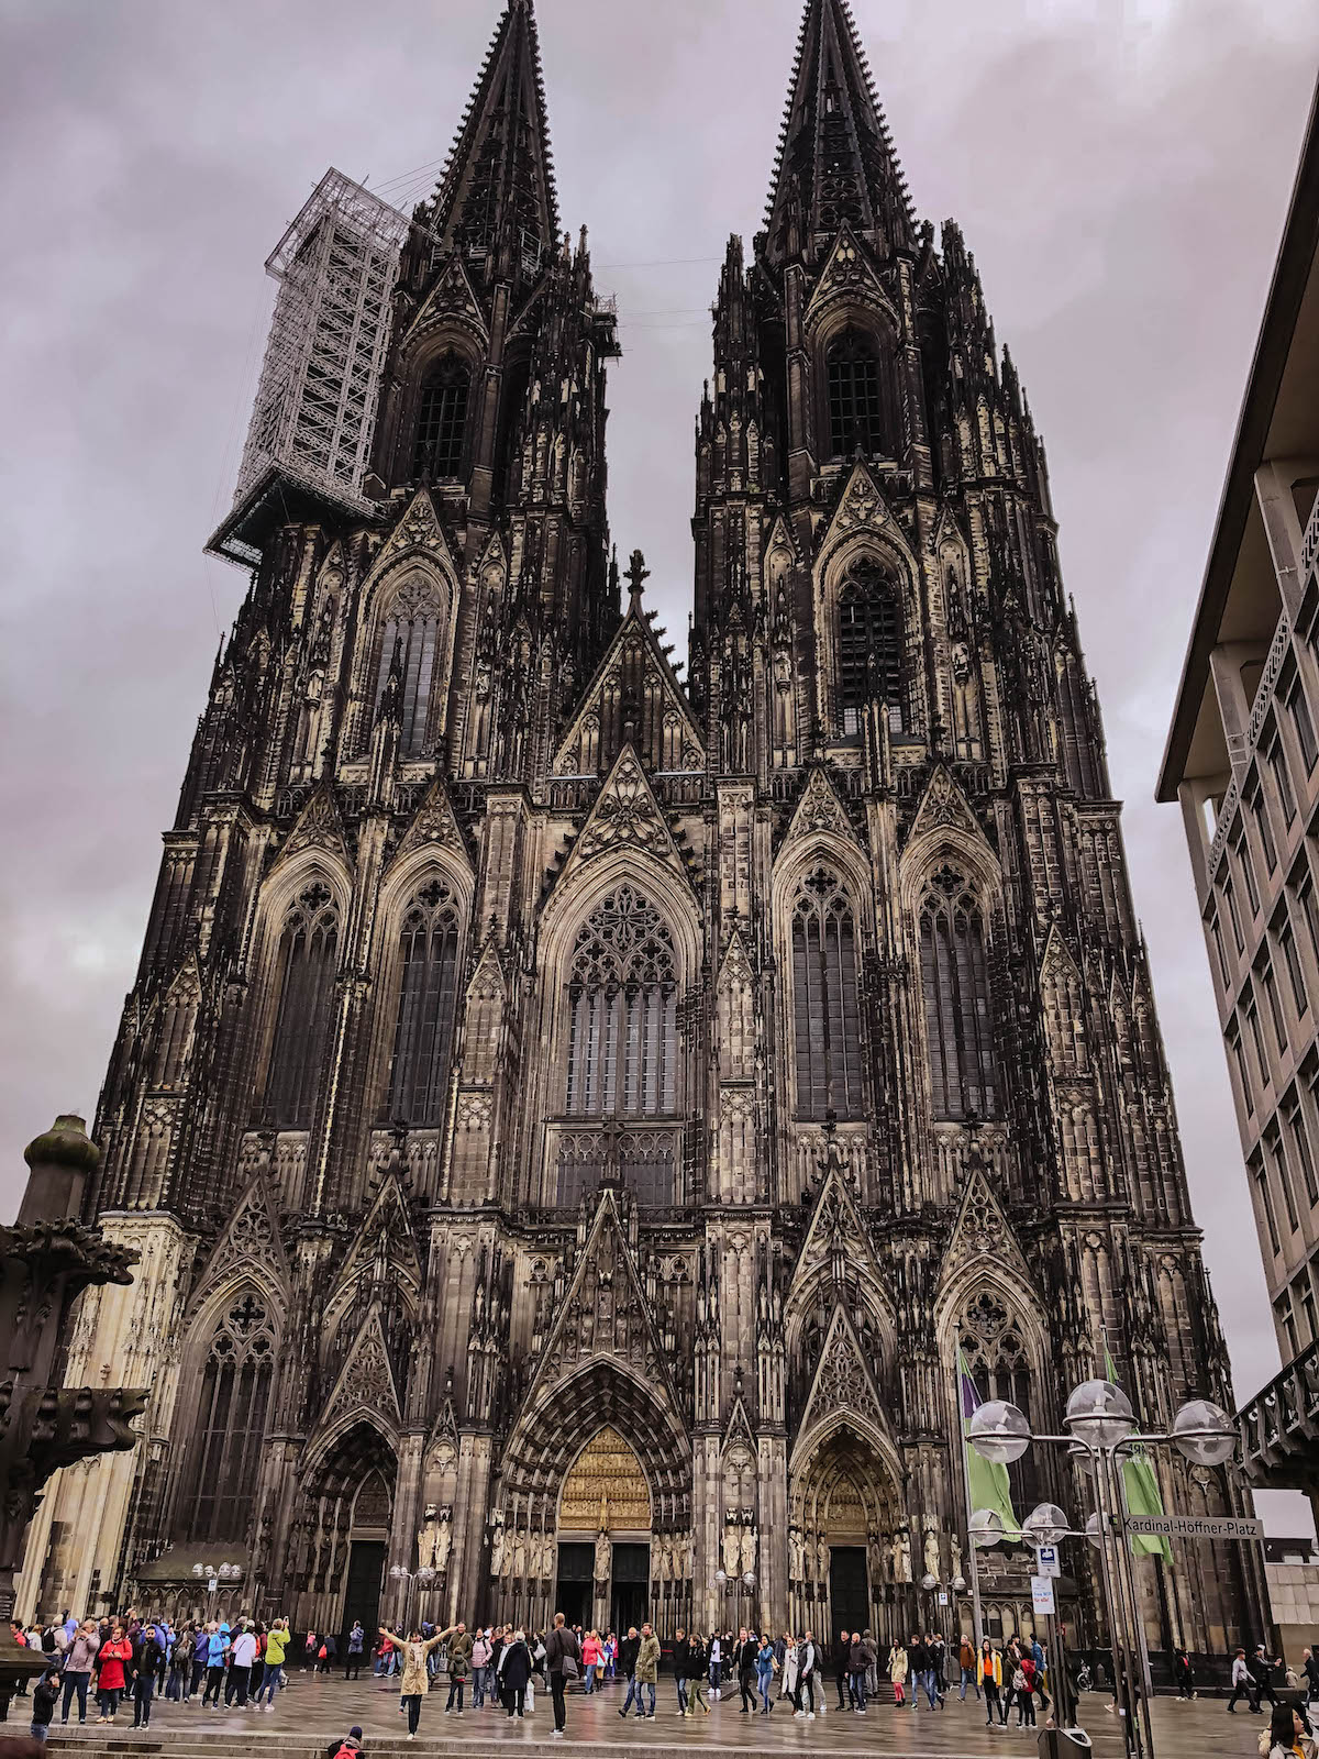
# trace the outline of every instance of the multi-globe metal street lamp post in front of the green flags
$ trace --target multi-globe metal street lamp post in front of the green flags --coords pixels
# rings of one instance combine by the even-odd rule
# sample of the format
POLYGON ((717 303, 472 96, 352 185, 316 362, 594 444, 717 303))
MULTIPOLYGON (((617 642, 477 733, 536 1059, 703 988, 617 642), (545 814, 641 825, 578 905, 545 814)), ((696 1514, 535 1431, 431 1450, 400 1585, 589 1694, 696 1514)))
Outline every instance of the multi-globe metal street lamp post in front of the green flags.
MULTIPOLYGON (((1066 1435, 1032 1435, 1024 1411, 1006 1400, 994 1398, 980 1405, 971 1418, 967 1439, 976 1453, 999 1465, 1020 1460, 1032 1441, 1048 1446, 1066 1448, 1069 1456, 1085 1465, 1094 1481, 1096 1507, 1092 1516, 1094 1532, 1087 1523, 1087 1534, 1097 1537, 1101 1558, 1101 1587, 1104 1595, 1104 1615, 1108 1634, 1113 1645, 1113 1664, 1119 1675, 1119 1712, 1127 1719, 1127 1743, 1136 1755, 1141 1754, 1141 1733, 1145 1752, 1154 1759, 1154 1731, 1150 1726, 1150 1680, 1148 1671, 1138 1687, 1138 1671, 1133 1652, 1133 1625, 1140 1631, 1140 1606, 1136 1602, 1136 1578, 1131 1569, 1131 1550, 1127 1544, 1126 1514, 1122 1500, 1122 1462, 1131 1455, 1133 1446, 1171 1444, 1196 1465, 1222 1465, 1236 1444, 1236 1430, 1228 1412, 1206 1398, 1192 1398, 1182 1405, 1173 1418, 1168 1434, 1136 1435, 1136 1414, 1131 1400, 1111 1381, 1085 1381, 1075 1388, 1068 1398, 1064 1423, 1066 1435), (1110 1560, 1108 1544, 1113 1544, 1110 1560), (1140 1703, 1140 1720, 1134 1715, 1140 1703)), ((1041 1516, 1041 1529, 1053 1525, 1043 1520, 1045 1514, 1057 1516, 1066 1525, 1060 1509, 1041 1504, 1036 1509, 1041 1516)), ((1068 1529, 1069 1532, 1069 1529, 1068 1529)), ((981 1511, 973 1518, 973 1539, 976 1544, 992 1544, 1002 1536, 1002 1522, 992 1513, 981 1511), (994 1534, 997 1523, 999 1534, 994 1534)), ((1029 1537, 1029 1534, 1027 1534, 1029 1537)), ((1038 1543, 1048 1544, 1048 1539, 1038 1543)))

